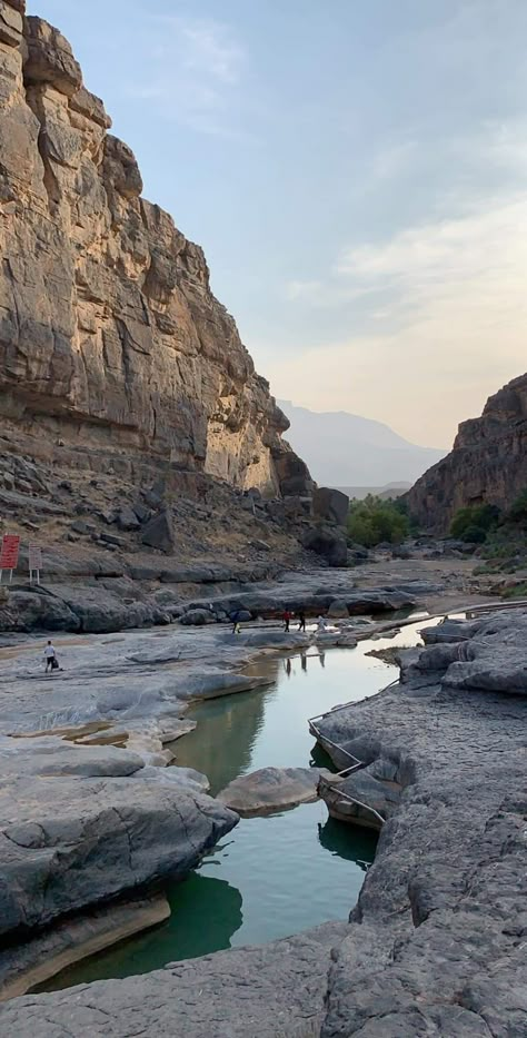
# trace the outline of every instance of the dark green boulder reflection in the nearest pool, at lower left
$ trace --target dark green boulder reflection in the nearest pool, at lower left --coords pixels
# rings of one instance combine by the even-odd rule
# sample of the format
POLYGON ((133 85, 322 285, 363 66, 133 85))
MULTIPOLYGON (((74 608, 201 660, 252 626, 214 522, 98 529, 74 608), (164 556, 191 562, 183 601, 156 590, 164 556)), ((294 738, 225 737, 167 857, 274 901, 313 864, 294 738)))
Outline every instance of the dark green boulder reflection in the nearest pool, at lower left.
POLYGON ((148 973, 168 962, 230 948, 231 938, 242 922, 239 890, 226 880, 191 872, 182 882, 169 887, 167 894, 172 915, 162 926, 72 966, 48 980, 42 990, 148 973))

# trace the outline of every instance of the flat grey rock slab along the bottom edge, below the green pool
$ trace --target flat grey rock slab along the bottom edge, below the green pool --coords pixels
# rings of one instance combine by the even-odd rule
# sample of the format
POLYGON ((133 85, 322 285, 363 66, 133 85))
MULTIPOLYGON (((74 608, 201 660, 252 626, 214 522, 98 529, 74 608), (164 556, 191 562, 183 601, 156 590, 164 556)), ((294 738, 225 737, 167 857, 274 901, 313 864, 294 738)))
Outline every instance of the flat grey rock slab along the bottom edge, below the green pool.
POLYGON ((315 1038, 331 949, 348 927, 189 959, 0 1006, 0 1034, 31 1038, 315 1038))

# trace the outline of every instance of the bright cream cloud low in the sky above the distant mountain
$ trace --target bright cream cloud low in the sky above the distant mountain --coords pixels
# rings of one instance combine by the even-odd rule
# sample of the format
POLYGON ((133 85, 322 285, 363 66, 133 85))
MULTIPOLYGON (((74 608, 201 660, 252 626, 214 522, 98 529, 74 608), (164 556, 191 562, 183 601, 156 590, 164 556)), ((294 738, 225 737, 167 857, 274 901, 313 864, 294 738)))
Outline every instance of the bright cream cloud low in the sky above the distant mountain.
POLYGON ((526 269, 525 196, 345 249, 327 290, 385 293, 369 315, 376 330, 320 343, 301 363, 276 352, 274 389, 294 384, 306 406, 367 414, 410 439, 448 445, 458 416, 479 414, 525 369, 526 269))

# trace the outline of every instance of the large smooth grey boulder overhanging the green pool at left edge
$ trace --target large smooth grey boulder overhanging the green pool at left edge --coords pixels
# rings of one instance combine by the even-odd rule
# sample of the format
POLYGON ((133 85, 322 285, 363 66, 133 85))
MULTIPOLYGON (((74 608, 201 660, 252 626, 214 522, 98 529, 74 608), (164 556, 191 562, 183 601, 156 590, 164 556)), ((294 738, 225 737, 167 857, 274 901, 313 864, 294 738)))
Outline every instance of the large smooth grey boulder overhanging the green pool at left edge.
POLYGON ((8 775, 0 935, 182 877, 236 823, 222 804, 155 779, 8 775))

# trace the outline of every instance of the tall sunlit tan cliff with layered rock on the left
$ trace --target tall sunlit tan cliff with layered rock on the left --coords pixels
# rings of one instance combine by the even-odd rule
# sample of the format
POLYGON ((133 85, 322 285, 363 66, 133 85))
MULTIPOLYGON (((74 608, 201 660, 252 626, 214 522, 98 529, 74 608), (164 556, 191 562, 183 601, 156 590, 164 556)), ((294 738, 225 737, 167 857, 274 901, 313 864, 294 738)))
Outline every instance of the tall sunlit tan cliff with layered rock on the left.
POLYGON ((141 198, 110 125, 61 33, 0 0, 3 428, 73 467, 159 459, 298 493, 309 473, 201 249, 141 198))

